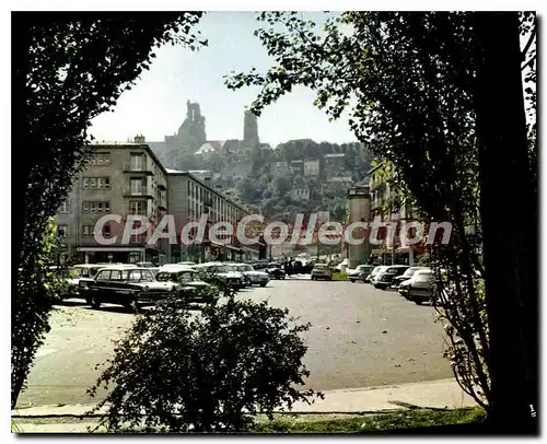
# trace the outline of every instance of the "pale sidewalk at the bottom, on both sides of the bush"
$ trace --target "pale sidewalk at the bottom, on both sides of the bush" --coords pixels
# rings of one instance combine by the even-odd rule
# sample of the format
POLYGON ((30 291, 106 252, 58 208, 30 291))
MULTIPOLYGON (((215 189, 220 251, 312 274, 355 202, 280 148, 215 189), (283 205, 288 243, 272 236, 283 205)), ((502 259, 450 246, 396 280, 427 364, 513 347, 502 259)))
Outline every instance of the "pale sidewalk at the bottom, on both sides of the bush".
MULTIPOLYGON (((311 406, 296 402, 294 413, 382 413, 401 409, 475 407, 454 379, 325 392, 311 406)), ((96 419, 85 417, 92 405, 40 406, 11 411, 20 433, 86 433, 96 419), (47 420, 47 423, 46 423, 47 420), (51 420, 58 422, 51 423, 51 420), (42 423, 40 423, 42 422, 42 423)))

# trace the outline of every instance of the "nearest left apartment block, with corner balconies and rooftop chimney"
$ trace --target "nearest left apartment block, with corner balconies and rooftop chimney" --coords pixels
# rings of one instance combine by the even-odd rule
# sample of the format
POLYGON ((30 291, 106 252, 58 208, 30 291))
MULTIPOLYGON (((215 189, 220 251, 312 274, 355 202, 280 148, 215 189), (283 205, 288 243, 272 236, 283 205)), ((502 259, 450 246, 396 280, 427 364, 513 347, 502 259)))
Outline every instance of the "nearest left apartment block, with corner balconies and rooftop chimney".
MULTIPOLYGON (((86 168, 81 172, 57 214, 58 233, 63 238, 62 259, 81 262, 156 260, 165 262, 166 246, 147 243, 147 235, 132 236, 121 245, 129 214, 154 222, 167 211, 167 174, 143 138, 135 143, 96 144, 86 168), (120 223, 108 222, 103 236, 112 242, 100 245, 94 227, 105 214, 118 214, 120 223)), ((61 260, 62 260, 61 259, 61 260)))

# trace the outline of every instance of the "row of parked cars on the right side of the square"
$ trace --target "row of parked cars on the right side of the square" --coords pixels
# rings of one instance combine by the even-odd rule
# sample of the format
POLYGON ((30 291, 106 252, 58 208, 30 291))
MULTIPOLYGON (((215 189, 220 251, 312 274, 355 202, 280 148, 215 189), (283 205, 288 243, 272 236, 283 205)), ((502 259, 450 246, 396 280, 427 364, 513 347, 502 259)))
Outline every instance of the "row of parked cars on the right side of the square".
POLYGON ((381 290, 396 289, 400 295, 416 304, 433 297, 432 272, 429 267, 360 265, 350 273, 349 280, 371 283, 381 290))

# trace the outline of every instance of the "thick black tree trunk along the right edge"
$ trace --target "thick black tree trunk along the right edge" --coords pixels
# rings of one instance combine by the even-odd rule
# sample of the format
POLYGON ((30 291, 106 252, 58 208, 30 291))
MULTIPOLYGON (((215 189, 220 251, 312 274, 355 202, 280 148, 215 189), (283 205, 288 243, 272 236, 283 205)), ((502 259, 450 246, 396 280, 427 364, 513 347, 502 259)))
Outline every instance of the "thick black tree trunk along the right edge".
POLYGON ((537 199, 526 151, 519 15, 477 13, 477 137, 498 430, 537 432, 537 199))

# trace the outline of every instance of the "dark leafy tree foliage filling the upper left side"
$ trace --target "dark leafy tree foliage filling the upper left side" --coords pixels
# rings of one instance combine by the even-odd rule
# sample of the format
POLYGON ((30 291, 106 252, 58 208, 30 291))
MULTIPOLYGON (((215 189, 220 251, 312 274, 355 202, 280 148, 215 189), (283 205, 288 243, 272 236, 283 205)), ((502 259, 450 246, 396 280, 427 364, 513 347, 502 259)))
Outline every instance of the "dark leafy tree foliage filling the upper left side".
MULTIPOLYGON (((191 28, 201 12, 13 14, 18 91, 14 143, 25 147, 14 188, 12 250, 16 291, 12 293, 12 408, 47 327, 50 296, 43 285, 43 235, 48 218, 68 196, 88 160, 91 120, 109 110, 148 70, 165 43, 190 49, 207 45, 191 28)), ((92 138, 91 138, 92 139, 92 138)))

